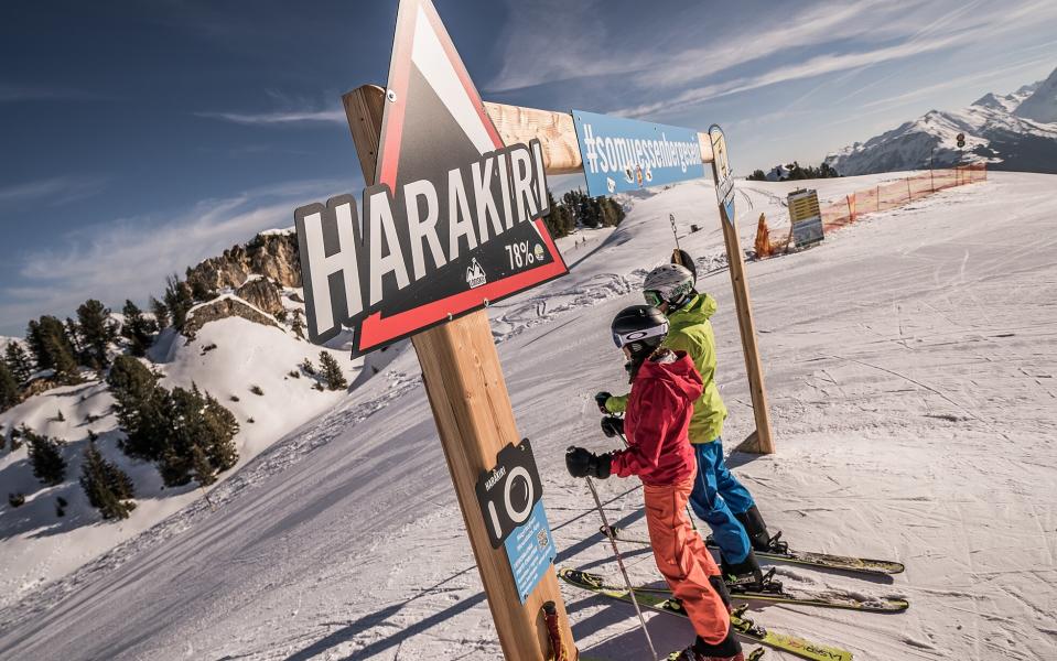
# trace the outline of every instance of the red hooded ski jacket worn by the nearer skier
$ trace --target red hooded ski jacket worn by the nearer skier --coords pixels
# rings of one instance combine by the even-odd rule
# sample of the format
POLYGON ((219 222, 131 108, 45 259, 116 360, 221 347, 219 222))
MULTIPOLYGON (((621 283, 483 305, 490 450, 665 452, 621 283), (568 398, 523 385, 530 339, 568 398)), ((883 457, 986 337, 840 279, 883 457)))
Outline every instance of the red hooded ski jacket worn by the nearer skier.
POLYGON ((666 486, 690 479, 697 469, 687 437, 701 376, 686 351, 667 351, 638 368, 624 413, 628 447, 613 454, 610 470, 666 486))

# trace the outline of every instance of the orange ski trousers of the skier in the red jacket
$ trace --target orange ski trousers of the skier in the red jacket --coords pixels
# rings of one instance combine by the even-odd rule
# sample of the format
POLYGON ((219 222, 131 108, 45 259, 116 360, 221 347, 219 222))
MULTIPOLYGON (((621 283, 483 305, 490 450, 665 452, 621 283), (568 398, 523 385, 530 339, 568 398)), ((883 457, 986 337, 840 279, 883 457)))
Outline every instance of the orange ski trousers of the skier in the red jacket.
POLYGON ((691 490, 693 476, 668 486, 644 484, 646 524, 657 568, 682 602, 693 630, 705 642, 719 644, 730 630, 731 616, 709 583, 709 576, 719 576, 720 568, 687 516, 691 490))

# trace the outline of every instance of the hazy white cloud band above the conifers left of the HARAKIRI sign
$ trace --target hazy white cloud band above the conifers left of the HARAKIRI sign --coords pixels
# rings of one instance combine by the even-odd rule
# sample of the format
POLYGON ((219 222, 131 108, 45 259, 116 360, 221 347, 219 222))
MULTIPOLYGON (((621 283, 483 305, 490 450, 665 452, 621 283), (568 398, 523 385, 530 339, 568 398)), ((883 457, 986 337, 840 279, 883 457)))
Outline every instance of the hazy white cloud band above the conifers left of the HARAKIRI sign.
POLYGON ((158 294, 166 274, 251 239, 293 225, 298 206, 348 189, 336 181, 295 182, 199 202, 169 217, 119 219, 79 229, 63 247, 24 254, 20 282, 0 289, 0 326, 18 330, 41 314, 65 316, 88 297, 117 305, 158 294))

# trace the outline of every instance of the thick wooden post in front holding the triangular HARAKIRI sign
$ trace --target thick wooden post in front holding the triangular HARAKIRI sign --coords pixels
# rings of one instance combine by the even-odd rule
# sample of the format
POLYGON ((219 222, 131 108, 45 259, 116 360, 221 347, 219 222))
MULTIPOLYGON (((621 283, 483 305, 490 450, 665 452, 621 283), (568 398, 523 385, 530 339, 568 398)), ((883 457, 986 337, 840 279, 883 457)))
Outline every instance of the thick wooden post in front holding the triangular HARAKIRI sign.
MULTIPOLYGON (((359 87, 342 97, 368 186, 375 183, 385 98, 381 88, 375 87, 375 91, 373 87, 359 87)), ((522 606, 506 551, 492 548, 477 506, 477 477, 495 466, 496 455, 507 443, 521 438, 487 312, 477 311, 423 330, 411 337, 411 344, 422 366, 425 392, 504 657, 508 661, 551 658, 542 606, 553 602, 562 644, 578 658, 553 568, 522 606)))

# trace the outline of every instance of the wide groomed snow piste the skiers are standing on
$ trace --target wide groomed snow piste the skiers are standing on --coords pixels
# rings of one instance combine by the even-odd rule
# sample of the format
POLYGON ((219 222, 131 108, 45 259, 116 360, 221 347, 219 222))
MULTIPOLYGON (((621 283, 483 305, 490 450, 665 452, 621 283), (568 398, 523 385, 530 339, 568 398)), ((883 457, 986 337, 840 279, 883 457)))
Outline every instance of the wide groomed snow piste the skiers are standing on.
MULTIPOLYGON (((775 630, 863 660, 1057 658, 1057 176, 989 176, 747 267, 778 454, 734 453, 735 473, 795 546, 907 565, 891 582, 792 565, 779 577, 912 603, 893 616, 754 604, 775 630)), ((813 185, 834 197, 881 178, 813 185)), ((748 247, 790 185, 740 187, 748 247)), ((563 241, 569 277, 492 311, 559 563, 614 578, 562 456, 614 447, 591 395, 625 387, 608 323, 666 260, 669 213, 703 228, 680 243, 720 303, 730 449, 753 419, 711 185, 637 197, 616 230, 563 241)), ((283 405, 300 418, 309 404, 283 405)), ((282 424, 287 411, 268 414, 282 424)), ((215 511, 196 499, 0 610, 0 658, 500 658, 435 435, 406 350, 216 486, 215 511)), ((637 480, 598 486, 611 521, 645 533, 637 480)), ((633 579, 659 578, 648 552, 625 552, 633 579)), ((562 589, 582 652, 648 658, 632 608, 562 589)), ((682 620, 646 617, 662 650, 692 638, 682 620)))

